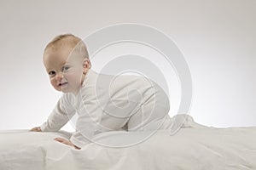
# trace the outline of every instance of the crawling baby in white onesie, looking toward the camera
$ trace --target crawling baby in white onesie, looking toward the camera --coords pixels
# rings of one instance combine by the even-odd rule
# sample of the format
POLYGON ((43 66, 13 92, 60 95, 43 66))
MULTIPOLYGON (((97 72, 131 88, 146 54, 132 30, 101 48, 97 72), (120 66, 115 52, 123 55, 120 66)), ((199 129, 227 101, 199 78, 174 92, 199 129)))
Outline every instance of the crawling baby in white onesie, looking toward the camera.
POLYGON ((79 37, 55 37, 43 58, 51 85, 63 94, 48 120, 31 131, 59 131, 77 113, 76 132, 55 140, 80 149, 99 133, 160 129, 168 116, 169 99, 159 85, 146 77, 93 71, 79 37))

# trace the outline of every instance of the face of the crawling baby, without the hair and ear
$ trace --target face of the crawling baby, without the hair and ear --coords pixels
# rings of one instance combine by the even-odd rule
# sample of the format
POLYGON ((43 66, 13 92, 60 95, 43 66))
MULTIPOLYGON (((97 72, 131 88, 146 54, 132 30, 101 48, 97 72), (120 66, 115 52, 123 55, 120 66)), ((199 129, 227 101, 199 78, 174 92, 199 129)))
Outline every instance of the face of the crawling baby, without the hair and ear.
POLYGON ((84 81, 83 59, 73 48, 49 49, 44 53, 44 66, 50 83, 57 91, 77 94, 84 81))

